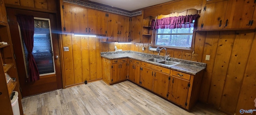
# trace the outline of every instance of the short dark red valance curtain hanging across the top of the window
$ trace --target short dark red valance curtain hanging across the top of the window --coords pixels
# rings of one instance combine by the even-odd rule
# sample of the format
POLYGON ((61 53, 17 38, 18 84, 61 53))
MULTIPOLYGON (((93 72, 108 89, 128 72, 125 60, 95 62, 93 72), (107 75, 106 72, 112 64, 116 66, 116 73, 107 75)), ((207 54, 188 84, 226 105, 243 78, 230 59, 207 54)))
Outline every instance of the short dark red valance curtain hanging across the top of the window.
POLYGON ((157 20, 152 20, 151 29, 163 29, 163 28, 192 28, 196 24, 198 14, 178 17, 168 17, 157 20), (194 20, 194 21, 193 21, 194 20), (156 23, 155 27, 154 24, 156 23))

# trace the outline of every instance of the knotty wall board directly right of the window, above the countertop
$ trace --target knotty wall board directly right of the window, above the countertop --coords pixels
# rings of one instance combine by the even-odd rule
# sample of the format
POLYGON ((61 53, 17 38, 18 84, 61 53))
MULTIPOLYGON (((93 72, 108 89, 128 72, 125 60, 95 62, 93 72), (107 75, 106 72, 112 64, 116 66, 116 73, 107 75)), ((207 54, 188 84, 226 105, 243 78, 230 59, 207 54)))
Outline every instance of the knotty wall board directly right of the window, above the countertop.
POLYGON ((206 32, 196 32, 194 36, 194 54, 191 56, 191 61, 202 62, 205 38, 206 32))

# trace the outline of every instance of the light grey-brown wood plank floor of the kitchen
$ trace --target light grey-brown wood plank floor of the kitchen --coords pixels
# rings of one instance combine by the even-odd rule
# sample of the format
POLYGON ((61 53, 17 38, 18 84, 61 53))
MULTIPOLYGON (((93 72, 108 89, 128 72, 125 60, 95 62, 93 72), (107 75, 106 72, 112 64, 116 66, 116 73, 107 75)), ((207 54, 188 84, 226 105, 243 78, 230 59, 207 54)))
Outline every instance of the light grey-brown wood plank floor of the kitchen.
POLYGON ((103 81, 22 99, 25 115, 225 115, 197 104, 191 112, 124 81, 103 81))

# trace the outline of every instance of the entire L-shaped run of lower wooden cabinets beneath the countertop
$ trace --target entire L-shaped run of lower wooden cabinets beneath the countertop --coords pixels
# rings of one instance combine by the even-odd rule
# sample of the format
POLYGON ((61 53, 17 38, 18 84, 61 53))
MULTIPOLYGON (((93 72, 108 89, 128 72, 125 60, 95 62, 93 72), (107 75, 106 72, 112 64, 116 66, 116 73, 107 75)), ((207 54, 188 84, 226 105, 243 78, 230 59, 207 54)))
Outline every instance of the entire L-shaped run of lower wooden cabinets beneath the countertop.
MULTIPOLYGON (((127 74, 125 73, 127 68, 124 69, 125 65, 122 65, 127 62, 122 62, 122 59, 108 60, 105 58, 102 58, 102 62, 103 67, 111 68, 111 73, 108 69, 103 70, 104 76, 102 78, 106 83, 111 85, 111 83, 125 80, 125 77, 117 76, 127 74), (123 71, 125 72, 122 73, 123 71), (107 75, 110 77, 107 77, 107 75), (113 81, 110 79, 113 79, 113 81)), ((187 110, 190 110, 198 100, 202 76, 203 71, 196 73, 196 75, 190 75, 135 59, 129 59, 128 61, 129 81, 141 85, 187 110)))

